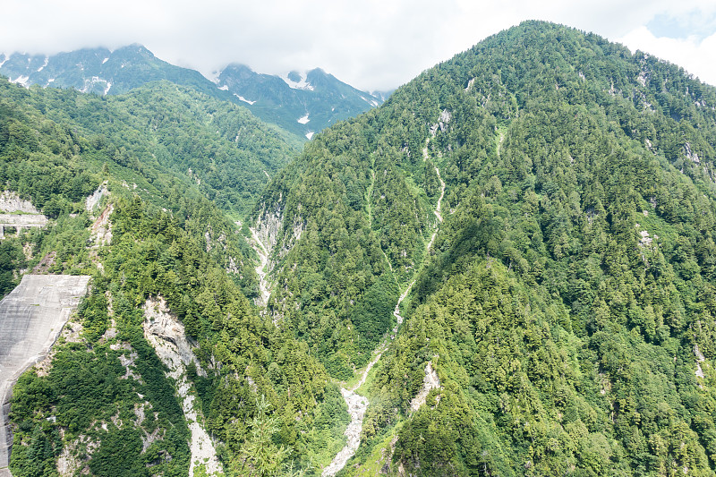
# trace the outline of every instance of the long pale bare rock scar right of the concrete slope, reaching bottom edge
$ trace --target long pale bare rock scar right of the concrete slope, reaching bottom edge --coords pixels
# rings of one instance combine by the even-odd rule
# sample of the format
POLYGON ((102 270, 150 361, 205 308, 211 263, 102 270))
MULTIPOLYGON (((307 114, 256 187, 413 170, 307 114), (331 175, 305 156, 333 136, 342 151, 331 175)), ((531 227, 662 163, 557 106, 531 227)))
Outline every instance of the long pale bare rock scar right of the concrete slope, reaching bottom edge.
POLYGON ((190 395, 191 383, 186 376, 186 366, 194 362, 197 372, 206 376, 192 351, 192 344, 186 338, 183 324, 175 318, 166 306, 164 298, 149 298, 144 303, 144 337, 154 347, 159 359, 169 368, 169 376, 176 381, 176 392, 182 402, 184 418, 192 431, 192 464, 189 476, 204 465, 208 475, 223 474, 217 452, 209 434, 200 423, 200 411, 194 407, 194 396, 190 395))

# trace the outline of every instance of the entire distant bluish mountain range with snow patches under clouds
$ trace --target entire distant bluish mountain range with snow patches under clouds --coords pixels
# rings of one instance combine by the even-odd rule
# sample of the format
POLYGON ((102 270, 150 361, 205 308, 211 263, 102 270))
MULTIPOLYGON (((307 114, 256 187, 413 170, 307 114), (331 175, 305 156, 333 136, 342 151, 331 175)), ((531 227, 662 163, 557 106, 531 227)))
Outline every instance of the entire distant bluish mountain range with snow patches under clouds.
POLYGON ((311 139, 329 124, 367 111, 382 103, 320 69, 305 77, 289 72, 286 78, 252 72, 231 64, 218 74, 218 84, 200 72, 168 64, 141 45, 86 48, 57 55, 0 55, 0 73, 25 87, 72 88, 84 93, 123 94, 152 81, 170 81, 212 98, 251 109, 301 138, 311 139))

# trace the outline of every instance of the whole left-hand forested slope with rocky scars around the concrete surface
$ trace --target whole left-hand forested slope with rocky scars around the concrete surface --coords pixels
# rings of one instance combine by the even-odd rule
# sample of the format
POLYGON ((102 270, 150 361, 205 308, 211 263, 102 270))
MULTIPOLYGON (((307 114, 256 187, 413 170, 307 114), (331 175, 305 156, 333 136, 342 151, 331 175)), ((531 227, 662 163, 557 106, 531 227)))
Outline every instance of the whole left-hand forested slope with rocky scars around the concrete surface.
POLYGON ((251 174, 294 149, 245 110, 175 85, 111 99, 0 91, 4 188, 51 219, 4 239, 3 291, 30 270, 92 275, 79 316, 14 388, 13 475, 208 472, 197 429, 226 472, 327 463, 342 400, 306 346, 251 304, 254 254, 233 220, 262 183, 251 174), (214 171, 224 179, 209 182, 214 171), (185 362, 155 345, 172 340, 185 362))

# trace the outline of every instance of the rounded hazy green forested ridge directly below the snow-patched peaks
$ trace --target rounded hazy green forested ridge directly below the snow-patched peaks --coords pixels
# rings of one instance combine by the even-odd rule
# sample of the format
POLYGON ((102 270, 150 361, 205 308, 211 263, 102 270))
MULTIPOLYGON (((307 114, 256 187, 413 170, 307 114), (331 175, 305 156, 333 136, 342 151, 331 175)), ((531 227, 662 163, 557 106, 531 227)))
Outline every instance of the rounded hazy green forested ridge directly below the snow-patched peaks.
POLYGON ((125 183, 157 203, 166 200, 169 183, 181 178, 241 217, 300 147, 293 135, 261 123, 241 106, 168 82, 103 98, 69 89, 25 91, 7 81, 0 88, 14 105, 81 132, 89 142, 81 149, 98 151, 98 163, 109 170, 132 170, 139 178, 123 175, 125 183))

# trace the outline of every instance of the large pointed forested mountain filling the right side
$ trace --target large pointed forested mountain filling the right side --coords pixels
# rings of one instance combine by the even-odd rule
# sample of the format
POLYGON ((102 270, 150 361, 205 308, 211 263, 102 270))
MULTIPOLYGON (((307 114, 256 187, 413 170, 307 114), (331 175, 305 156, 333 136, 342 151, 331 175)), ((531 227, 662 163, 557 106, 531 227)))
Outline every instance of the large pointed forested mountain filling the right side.
POLYGON ((348 379, 410 291, 343 474, 712 475, 714 138, 713 87, 537 21, 318 134, 269 311, 348 379))

